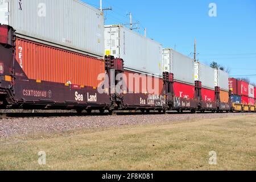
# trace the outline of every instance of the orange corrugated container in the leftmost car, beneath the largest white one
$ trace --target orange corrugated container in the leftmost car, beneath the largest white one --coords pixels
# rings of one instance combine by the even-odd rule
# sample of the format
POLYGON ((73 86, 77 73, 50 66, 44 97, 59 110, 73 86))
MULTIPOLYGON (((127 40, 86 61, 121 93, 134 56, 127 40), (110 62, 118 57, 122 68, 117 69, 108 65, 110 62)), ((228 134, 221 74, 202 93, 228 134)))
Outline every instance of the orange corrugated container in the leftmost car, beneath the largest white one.
POLYGON ((34 80, 97 87, 105 73, 104 60, 76 52, 16 39, 16 60, 27 77, 34 80))

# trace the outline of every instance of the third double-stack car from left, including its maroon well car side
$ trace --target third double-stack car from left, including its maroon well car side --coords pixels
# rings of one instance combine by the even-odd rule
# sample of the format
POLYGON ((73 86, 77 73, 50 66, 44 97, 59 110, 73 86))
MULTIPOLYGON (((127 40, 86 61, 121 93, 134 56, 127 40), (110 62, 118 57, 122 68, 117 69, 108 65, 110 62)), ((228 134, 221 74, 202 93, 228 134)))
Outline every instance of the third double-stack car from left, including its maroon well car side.
POLYGON ((173 74, 175 110, 196 109, 194 60, 171 49, 163 49, 164 72, 173 74))

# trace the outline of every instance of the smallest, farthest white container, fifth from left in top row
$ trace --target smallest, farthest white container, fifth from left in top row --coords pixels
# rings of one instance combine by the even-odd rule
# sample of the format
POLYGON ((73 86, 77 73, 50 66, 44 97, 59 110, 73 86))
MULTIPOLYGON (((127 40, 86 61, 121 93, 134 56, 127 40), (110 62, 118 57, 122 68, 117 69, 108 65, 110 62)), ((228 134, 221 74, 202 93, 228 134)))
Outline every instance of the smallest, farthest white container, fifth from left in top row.
POLYGON ((220 69, 214 69, 214 85, 220 87, 221 90, 228 92, 229 74, 220 69))

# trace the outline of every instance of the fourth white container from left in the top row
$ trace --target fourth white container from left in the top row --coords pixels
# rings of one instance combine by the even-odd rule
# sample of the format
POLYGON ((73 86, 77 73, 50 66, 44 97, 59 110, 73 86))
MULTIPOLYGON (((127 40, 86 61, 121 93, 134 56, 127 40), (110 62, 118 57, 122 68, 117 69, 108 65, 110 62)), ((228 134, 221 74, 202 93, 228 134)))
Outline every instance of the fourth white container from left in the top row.
POLYGON ((201 81, 203 88, 214 90, 214 69, 200 62, 195 62, 195 80, 201 81))

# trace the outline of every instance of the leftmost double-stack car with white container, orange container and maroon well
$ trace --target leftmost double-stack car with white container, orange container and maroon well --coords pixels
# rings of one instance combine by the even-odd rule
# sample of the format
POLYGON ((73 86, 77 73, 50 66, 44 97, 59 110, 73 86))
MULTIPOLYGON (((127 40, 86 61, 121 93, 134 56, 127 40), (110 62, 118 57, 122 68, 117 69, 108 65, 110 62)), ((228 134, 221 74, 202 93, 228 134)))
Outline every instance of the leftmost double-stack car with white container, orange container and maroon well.
POLYGON ((109 108, 109 95, 97 92, 105 74, 101 11, 76 0, 1 1, 0 9, 2 107, 109 108))

